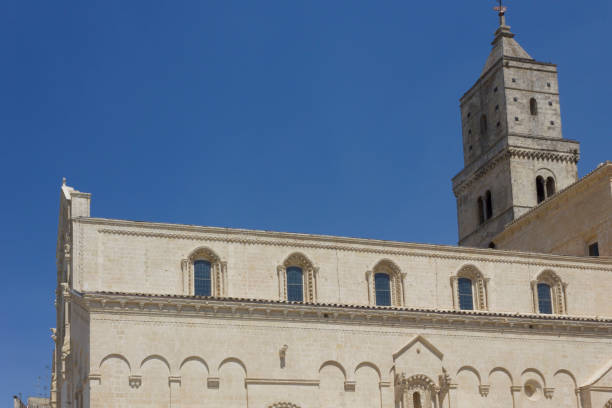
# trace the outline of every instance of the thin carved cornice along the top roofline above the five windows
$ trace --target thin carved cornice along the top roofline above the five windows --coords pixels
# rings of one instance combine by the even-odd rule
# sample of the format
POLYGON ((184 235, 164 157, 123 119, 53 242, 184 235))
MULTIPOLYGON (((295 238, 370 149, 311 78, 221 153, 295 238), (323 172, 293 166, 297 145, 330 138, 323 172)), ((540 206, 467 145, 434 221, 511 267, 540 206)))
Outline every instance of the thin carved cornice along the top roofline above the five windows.
POLYGON ((504 250, 491 250, 480 248, 457 247, 448 245, 416 244, 398 241, 380 241, 362 238, 333 237, 325 235, 292 234, 284 232, 249 231, 213 227, 190 227, 174 224, 152 224, 138 223, 121 220, 79 219, 81 222, 94 224, 114 225, 122 227, 138 227, 133 229, 107 229, 100 228, 101 234, 123 235, 134 237, 179 239, 189 241, 223 242, 241 245, 262 245, 289 247, 300 250, 305 249, 328 249, 334 251, 371 253, 390 256, 410 256, 434 259, 464 260, 472 262, 506 263, 520 265, 536 265, 548 268, 571 268, 581 270, 604 270, 612 272, 612 262, 604 258, 570 257, 548 254, 533 254, 523 252, 512 252, 504 250), (151 231, 149 228, 158 230, 175 230, 173 233, 151 231), (185 229, 202 233, 187 234, 179 233, 185 229), (238 235, 238 236, 236 236, 238 235), (249 235, 249 236, 247 236, 249 235), (316 241, 316 242, 313 242, 316 241), (548 261, 548 262, 546 262, 548 261), (575 262, 576 264, 560 263, 575 262), (604 265, 603 267, 596 266, 604 265))

